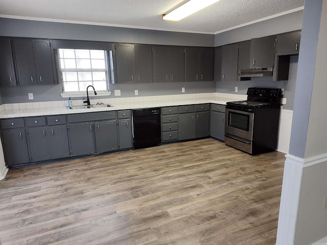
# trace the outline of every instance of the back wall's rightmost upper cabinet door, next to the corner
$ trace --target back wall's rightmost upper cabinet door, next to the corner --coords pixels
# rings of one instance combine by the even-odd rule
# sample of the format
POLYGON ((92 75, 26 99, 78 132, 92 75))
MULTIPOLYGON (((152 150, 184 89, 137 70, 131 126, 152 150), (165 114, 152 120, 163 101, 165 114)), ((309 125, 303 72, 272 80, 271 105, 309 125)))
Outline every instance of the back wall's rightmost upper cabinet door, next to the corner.
POLYGON ((200 48, 199 76, 201 81, 213 81, 214 49, 200 48))

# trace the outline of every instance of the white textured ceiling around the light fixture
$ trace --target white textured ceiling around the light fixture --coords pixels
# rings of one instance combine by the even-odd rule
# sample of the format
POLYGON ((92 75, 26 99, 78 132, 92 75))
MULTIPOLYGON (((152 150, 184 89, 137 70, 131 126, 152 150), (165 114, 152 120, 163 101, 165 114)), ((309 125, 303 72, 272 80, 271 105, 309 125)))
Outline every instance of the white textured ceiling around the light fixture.
MULTIPOLYGON (((203 0, 205 1, 205 0, 203 0)), ((220 0, 179 22, 162 20, 187 0, 0 0, 0 17, 217 34, 303 9, 304 0, 220 0)))

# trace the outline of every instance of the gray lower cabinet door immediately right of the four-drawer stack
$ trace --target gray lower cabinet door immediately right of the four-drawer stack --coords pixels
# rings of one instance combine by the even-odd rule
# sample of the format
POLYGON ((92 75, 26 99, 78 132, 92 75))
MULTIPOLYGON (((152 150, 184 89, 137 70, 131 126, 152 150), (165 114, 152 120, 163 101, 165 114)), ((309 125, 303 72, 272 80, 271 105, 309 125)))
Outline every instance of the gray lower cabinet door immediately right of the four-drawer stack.
POLYGON ((194 113, 179 114, 179 139, 193 139, 195 136, 194 113))

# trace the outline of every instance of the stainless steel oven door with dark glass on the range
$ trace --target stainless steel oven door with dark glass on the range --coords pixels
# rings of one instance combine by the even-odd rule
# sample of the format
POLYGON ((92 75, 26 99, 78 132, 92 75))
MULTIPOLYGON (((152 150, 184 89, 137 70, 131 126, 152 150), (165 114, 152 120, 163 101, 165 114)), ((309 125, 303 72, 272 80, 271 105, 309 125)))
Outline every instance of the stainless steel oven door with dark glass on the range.
POLYGON ((252 141, 254 112, 226 108, 225 133, 252 141))

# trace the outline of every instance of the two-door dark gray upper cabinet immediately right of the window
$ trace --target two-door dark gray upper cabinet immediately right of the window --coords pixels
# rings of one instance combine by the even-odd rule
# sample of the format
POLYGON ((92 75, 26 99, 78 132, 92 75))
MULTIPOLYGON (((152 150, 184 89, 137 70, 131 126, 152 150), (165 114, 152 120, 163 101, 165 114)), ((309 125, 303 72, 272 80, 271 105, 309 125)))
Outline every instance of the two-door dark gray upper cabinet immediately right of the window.
POLYGON ((152 46, 115 44, 118 83, 152 83, 152 46))

